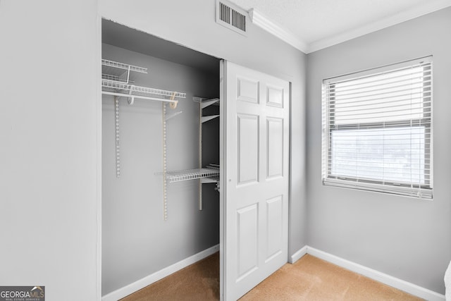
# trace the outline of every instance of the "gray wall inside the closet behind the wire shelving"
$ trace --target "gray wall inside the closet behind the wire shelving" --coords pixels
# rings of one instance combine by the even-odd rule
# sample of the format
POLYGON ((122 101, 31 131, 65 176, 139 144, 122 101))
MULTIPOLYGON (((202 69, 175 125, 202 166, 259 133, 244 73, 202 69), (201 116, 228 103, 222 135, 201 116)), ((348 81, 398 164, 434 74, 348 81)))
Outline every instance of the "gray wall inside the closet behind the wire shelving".
MULTIPOLYGON (((148 74, 133 74, 135 85, 187 94, 176 109, 167 106, 167 115, 183 111, 167 121, 167 168, 198 168, 199 104, 192 97, 219 97, 219 75, 108 44, 102 44, 102 58, 147 67, 148 74)), ((102 97, 102 295, 219 243, 214 186, 199 211, 197 180, 169 183, 168 220, 163 220, 163 181, 155 175, 162 171, 161 103, 136 99, 129 106, 121 100, 119 110, 121 177, 116 178, 114 97, 102 97)))

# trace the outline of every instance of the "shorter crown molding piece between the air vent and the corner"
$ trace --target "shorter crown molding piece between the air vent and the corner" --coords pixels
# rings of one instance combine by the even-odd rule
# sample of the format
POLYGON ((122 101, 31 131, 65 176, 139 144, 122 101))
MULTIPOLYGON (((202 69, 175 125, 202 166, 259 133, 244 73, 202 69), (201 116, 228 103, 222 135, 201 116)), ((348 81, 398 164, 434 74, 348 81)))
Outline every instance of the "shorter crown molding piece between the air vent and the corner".
POLYGON ((298 39, 291 32, 288 32, 288 30, 285 30, 285 28, 274 23, 269 18, 266 18, 266 16, 262 15, 261 13, 256 11, 254 8, 249 9, 249 16, 252 20, 252 23, 254 23, 255 25, 257 25, 257 26, 261 27, 262 29, 266 30, 267 32, 271 33, 271 35, 275 35, 276 37, 283 40, 284 42, 287 42, 292 47, 295 47, 296 49, 299 49, 300 51, 306 53, 307 44, 305 44, 303 41, 298 39))

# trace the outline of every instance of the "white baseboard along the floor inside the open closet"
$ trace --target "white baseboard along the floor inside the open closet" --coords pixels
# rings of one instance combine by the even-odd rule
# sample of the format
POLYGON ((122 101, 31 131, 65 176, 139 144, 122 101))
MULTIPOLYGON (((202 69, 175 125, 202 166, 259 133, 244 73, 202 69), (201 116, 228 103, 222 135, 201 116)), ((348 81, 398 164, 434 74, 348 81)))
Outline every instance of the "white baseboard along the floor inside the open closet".
POLYGON ((147 285, 150 285, 160 279, 169 276, 180 269, 189 266, 190 264, 194 264, 199 260, 202 260, 206 257, 209 257, 211 254, 214 254, 219 251, 219 245, 215 245, 206 249, 202 252, 192 255, 186 259, 181 260, 180 262, 176 262, 175 264, 168 266, 160 271, 156 271, 154 274, 146 276, 134 283, 130 283, 129 285, 124 286, 123 288, 119 288, 118 290, 114 290, 108 295, 104 295, 101 297, 101 301, 117 301, 123 297, 130 295, 131 293, 135 293, 137 290, 145 288, 147 285))

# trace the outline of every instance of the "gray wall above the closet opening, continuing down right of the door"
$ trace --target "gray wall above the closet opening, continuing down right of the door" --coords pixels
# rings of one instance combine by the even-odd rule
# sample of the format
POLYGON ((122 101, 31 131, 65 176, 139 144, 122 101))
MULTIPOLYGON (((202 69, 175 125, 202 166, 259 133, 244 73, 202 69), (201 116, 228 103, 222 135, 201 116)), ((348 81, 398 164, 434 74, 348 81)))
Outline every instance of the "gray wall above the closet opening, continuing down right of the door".
POLYGON ((216 1, 99 1, 101 16, 220 59, 292 82, 291 203, 289 254, 307 243, 305 199, 306 56, 248 23, 247 37, 216 24, 216 1))

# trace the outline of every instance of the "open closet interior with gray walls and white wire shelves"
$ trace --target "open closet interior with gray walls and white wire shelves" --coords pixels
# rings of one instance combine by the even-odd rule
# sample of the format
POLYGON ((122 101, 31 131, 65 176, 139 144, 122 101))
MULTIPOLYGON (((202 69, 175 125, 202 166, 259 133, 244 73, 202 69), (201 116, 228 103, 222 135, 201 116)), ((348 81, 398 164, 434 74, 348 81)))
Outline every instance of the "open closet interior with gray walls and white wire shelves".
POLYGON ((102 20, 102 295, 219 244, 220 60, 102 20))

